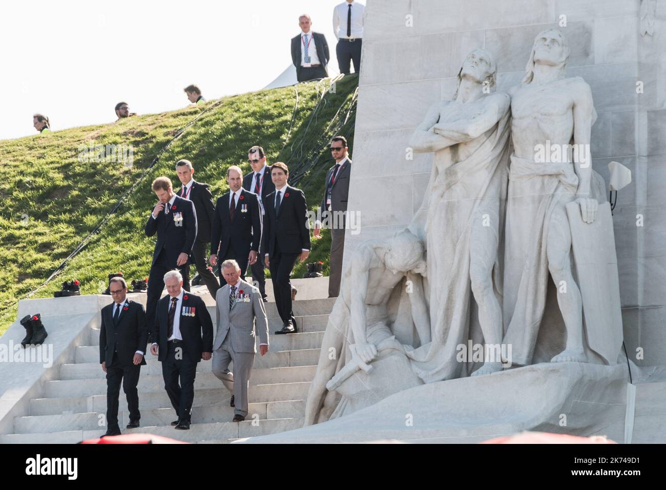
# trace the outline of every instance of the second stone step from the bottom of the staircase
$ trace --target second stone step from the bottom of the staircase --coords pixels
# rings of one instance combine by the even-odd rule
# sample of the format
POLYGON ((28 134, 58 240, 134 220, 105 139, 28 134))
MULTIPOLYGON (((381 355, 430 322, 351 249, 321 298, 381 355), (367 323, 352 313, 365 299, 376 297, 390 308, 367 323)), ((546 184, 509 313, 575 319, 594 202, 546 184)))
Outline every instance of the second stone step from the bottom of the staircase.
MULTIPOLYGON (((121 403, 123 406, 124 403, 121 403)), ((266 420, 303 417, 304 400, 250 403, 246 419, 266 420)), ((192 423, 228 422, 234 417, 234 408, 228 401, 215 405, 192 408, 192 423)), ((141 425, 151 427, 170 425, 176 418, 172 408, 141 410, 141 425)), ((125 427, 129 423, 129 412, 119 411, 118 423, 125 427)), ((105 412, 69 413, 61 415, 32 415, 14 418, 14 433, 47 433, 75 430, 104 430, 105 412)))

